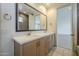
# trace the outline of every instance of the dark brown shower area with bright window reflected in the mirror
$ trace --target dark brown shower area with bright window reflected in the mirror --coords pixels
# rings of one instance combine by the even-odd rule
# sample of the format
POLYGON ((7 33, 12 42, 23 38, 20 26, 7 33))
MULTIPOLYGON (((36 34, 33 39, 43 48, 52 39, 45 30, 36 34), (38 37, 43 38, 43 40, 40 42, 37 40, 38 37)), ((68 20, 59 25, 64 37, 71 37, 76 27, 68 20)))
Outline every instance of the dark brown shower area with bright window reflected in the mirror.
POLYGON ((18 30, 28 30, 28 15, 19 12, 18 25, 18 30))

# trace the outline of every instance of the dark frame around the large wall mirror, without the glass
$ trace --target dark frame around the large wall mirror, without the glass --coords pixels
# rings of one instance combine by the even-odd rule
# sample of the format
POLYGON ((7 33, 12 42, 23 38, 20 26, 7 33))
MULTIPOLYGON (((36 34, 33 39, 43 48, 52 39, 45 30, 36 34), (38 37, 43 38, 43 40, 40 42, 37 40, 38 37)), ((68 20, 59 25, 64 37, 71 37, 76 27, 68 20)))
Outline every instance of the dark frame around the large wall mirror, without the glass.
POLYGON ((24 3, 25 5, 29 6, 30 8, 38 11, 40 14, 43 14, 44 16, 46 16, 46 29, 39 29, 39 30, 18 30, 18 3, 15 4, 15 9, 16 9, 16 32, 24 32, 24 31, 46 31, 47 30, 47 15, 45 15, 44 13, 40 12, 39 10, 35 9, 34 7, 30 6, 27 3, 24 3))

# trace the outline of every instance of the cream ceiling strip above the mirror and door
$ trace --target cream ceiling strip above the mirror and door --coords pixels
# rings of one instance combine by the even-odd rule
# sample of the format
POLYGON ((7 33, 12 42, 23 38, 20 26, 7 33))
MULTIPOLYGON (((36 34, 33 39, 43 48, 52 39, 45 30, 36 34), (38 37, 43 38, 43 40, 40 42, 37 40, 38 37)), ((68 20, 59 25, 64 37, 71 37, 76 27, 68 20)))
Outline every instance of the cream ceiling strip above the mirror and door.
POLYGON ((43 5, 46 9, 58 8, 69 3, 36 3, 37 5, 43 5))

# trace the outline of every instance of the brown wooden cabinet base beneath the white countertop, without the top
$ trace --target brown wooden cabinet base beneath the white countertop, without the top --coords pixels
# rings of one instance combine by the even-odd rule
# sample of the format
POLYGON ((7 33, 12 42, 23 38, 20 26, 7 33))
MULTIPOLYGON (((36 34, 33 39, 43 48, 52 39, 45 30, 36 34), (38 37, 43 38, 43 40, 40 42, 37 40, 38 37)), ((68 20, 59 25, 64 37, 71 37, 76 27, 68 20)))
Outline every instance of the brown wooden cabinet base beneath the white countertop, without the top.
MULTIPOLYGON (((50 36, 46 36, 23 45, 14 42, 15 56, 46 56, 49 53, 50 36)), ((52 44, 52 43, 51 43, 52 44)))

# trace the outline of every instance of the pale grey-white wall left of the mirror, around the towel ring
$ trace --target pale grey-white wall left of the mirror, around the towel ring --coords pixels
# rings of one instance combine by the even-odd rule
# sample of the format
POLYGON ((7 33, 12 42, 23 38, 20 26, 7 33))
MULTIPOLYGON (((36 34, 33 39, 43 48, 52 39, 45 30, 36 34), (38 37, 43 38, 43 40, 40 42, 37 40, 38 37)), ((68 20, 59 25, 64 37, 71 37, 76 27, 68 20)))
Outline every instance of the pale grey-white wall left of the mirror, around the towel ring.
POLYGON ((13 55, 13 41, 12 36, 15 32, 15 9, 13 4, 1 4, 1 54, 13 55), (11 20, 5 20, 3 15, 8 13, 12 16, 11 20))

